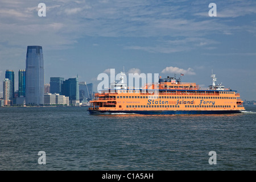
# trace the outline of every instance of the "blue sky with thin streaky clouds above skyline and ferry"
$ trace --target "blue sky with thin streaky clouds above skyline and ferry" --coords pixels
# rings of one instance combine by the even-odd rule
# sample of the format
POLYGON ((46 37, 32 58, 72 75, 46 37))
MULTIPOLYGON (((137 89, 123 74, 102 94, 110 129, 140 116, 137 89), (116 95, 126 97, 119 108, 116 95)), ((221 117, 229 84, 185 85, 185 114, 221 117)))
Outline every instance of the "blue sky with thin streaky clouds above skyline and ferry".
POLYGON ((183 73, 183 82, 207 87, 213 71, 218 84, 256 100, 255 10, 255 0, 1 0, 0 80, 12 69, 18 90, 27 46, 42 46, 46 84, 78 75, 97 92, 100 73, 124 67, 126 74, 183 73))

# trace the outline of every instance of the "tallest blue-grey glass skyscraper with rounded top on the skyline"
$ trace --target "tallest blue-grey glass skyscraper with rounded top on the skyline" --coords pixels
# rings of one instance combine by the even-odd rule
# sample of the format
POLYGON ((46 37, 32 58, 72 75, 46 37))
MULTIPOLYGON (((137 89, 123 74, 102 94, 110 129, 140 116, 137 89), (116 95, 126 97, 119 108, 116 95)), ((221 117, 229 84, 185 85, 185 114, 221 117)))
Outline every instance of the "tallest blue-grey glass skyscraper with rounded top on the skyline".
POLYGON ((27 47, 26 104, 44 104, 44 59, 41 46, 27 47))

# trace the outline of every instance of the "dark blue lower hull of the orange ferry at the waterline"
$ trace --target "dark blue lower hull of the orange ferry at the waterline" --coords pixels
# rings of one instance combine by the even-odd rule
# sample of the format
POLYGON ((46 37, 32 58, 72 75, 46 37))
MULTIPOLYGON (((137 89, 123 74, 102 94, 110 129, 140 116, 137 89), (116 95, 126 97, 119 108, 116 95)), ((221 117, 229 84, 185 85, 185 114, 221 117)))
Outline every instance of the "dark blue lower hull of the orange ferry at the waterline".
POLYGON ((241 110, 88 110, 90 114, 238 114, 241 110))

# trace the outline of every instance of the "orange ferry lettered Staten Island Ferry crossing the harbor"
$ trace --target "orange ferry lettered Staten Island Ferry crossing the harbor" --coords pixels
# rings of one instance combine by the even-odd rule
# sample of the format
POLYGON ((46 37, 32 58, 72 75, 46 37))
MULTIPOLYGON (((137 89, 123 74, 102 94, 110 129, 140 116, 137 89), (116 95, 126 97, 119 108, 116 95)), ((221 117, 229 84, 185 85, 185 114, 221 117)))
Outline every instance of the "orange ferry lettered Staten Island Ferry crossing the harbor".
POLYGON ((240 93, 216 84, 213 73, 208 88, 181 82, 181 76, 159 76, 156 83, 128 88, 125 73, 120 75, 120 82, 113 82, 110 88, 94 94, 88 109, 90 114, 233 114, 245 110, 240 93))

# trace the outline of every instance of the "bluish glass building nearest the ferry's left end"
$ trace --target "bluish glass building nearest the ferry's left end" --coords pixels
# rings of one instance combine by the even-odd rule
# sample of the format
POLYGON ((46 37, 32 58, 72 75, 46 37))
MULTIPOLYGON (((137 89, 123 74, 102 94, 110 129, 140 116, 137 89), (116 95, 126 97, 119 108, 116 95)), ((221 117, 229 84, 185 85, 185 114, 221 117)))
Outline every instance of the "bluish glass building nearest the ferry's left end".
POLYGON ((90 101, 93 98, 93 83, 79 82, 80 102, 90 101))

